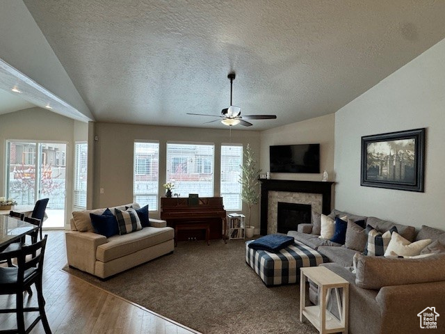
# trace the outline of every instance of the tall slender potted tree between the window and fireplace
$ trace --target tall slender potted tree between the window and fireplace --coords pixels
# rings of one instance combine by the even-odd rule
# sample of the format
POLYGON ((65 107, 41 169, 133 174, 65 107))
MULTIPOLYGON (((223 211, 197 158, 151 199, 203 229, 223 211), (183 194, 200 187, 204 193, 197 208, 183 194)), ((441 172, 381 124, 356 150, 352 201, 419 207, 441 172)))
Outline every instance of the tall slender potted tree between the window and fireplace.
POLYGON ((250 224, 250 213, 252 206, 258 204, 258 175, 261 169, 257 168, 257 160, 253 157, 254 152, 248 144, 243 153, 243 164, 241 165, 241 175, 238 182, 241 184, 241 200, 248 205, 248 219, 245 225, 245 237, 253 237, 254 227, 250 224))

